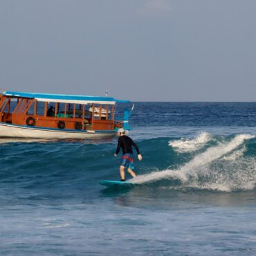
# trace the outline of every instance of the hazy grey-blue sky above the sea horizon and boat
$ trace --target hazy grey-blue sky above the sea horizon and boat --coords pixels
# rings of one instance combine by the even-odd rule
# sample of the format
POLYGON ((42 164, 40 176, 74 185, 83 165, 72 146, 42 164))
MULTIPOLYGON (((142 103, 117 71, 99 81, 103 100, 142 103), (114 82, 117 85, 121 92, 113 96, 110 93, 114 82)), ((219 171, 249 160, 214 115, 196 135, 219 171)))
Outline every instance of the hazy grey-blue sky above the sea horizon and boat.
POLYGON ((255 101, 255 0, 0 0, 0 88, 255 101))

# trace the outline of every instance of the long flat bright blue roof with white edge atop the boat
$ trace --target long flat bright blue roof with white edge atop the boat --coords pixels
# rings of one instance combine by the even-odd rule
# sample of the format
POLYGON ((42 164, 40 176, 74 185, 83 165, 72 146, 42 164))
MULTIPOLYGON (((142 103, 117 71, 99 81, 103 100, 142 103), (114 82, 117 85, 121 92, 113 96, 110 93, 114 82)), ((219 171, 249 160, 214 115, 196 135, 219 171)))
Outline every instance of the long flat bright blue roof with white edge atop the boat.
POLYGON ((66 94, 50 94, 50 93, 25 93, 19 91, 3 91, 3 95, 18 98, 30 98, 36 99, 42 102, 64 102, 64 103, 76 103, 76 104, 116 104, 129 103, 129 100, 116 100, 110 97, 98 97, 89 95, 66 95, 66 94))

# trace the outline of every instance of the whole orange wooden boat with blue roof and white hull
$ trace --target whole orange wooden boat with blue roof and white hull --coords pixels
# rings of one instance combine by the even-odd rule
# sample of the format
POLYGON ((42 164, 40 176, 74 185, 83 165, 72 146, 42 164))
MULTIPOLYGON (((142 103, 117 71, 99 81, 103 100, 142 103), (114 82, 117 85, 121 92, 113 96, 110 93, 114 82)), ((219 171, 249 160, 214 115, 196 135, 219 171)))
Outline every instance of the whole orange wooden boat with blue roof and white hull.
POLYGON ((109 97, 3 91, 0 93, 0 137, 91 139, 128 132, 127 109, 115 118, 117 103, 109 97))

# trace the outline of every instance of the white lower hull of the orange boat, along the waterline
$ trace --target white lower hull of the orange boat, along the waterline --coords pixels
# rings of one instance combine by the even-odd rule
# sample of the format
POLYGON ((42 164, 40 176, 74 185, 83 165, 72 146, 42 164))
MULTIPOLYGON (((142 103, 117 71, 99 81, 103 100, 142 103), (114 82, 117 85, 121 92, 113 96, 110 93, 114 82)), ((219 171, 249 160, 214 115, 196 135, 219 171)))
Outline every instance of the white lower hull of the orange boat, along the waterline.
POLYGON ((0 137, 11 138, 48 138, 48 139, 95 139, 109 138, 116 131, 76 131, 68 129, 48 129, 43 127, 27 127, 0 122, 0 137))

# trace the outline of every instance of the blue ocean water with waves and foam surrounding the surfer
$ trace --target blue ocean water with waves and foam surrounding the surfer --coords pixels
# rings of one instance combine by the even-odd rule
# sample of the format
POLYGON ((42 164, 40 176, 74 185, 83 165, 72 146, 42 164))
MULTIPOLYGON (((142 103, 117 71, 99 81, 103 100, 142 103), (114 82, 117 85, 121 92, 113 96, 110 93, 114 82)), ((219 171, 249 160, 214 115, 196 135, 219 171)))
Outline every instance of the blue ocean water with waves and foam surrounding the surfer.
POLYGON ((116 138, 1 138, 0 255, 256 255, 256 103, 138 102, 131 127, 131 189, 98 184, 116 138))

